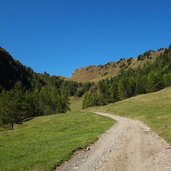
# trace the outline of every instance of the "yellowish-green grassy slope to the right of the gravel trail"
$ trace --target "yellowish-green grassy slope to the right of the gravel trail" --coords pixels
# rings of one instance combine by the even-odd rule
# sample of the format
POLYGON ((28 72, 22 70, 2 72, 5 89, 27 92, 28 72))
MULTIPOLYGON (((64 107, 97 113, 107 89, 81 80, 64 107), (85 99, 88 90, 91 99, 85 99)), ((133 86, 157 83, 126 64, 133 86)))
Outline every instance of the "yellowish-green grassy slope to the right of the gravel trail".
POLYGON ((94 110, 140 119, 171 144, 171 87, 94 110))

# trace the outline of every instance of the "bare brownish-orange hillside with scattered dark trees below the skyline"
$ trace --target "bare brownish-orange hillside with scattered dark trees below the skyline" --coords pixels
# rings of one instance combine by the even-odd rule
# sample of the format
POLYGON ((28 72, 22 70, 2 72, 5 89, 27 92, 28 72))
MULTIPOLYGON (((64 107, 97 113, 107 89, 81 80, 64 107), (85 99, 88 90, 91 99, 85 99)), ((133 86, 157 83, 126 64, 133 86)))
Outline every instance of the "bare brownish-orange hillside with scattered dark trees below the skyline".
POLYGON ((138 58, 120 59, 118 62, 109 62, 105 65, 80 68, 72 74, 70 79, 78 82, 97 82, 101 79, 111 78, 118 75, 122 69, 135 69, 147 63, 153 63, 163 52, 164 49, 149 50, 143 55, 139 55, 138 58))

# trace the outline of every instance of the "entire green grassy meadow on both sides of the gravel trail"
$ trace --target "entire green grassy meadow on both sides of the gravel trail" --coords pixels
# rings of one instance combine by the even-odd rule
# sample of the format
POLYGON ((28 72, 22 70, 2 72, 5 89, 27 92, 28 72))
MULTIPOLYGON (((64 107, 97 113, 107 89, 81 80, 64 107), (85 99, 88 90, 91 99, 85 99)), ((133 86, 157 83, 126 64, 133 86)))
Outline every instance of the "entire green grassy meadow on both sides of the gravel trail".
POLYGON ((71 98, 71 112, 34 118, 0 131, 0 170, 52 170, 109 129, 113 120, 91 111, 142 120, 171 144, 171 87, 80 112, 82 98, 71 98))

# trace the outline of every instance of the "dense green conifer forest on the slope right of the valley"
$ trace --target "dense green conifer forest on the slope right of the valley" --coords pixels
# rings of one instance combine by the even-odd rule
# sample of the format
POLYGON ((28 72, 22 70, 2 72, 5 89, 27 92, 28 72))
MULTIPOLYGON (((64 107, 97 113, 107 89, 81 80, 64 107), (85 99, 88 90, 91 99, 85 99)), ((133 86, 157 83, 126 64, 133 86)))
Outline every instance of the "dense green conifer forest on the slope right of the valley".
MULTIPOLYGON (((148 54, 140 55, 145 60, 148 54)), ((131 62, 131 61, 129 61, 131 62)), ((156 58, 154 63, 145 63, 136 69, 122 66, 120 73, 93 85, 85 93, 83 108, 106 105, 138 94, 158 91, 171 85, 171 46, 156 58)))

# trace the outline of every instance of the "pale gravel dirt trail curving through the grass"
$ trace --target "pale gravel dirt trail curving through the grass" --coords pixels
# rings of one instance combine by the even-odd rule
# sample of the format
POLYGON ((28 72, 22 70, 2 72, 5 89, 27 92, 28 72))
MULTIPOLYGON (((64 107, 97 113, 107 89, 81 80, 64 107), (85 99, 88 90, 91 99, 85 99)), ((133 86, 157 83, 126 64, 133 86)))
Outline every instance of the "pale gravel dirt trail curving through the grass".
POLYGON ((96 114, 113 118, 117 124, 56 171, 171 171, 171 147, 149 127, 112 114, 96 114))

